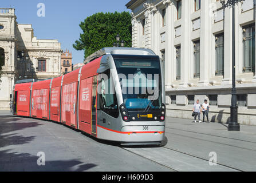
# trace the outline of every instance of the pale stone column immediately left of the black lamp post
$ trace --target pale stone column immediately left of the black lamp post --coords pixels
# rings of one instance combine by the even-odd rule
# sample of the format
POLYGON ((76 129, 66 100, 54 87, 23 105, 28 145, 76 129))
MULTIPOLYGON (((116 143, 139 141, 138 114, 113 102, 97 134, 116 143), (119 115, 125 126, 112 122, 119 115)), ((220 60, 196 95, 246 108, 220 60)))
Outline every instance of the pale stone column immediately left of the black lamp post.
POLYGON ((222 85, 232 83, 232 9, 225 9, 224 25, 224 78, 222 85))

